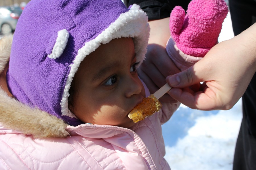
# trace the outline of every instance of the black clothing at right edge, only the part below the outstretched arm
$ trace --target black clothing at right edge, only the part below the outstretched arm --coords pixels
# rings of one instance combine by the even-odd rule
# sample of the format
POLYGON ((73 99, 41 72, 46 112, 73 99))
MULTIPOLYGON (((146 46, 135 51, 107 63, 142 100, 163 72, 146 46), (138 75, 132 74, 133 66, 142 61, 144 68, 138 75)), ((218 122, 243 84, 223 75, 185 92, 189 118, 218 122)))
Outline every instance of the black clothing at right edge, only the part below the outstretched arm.
POLYGON ((236 142, 233 170, 256 169, 256 74, 243 99, 243 119, 236 142))

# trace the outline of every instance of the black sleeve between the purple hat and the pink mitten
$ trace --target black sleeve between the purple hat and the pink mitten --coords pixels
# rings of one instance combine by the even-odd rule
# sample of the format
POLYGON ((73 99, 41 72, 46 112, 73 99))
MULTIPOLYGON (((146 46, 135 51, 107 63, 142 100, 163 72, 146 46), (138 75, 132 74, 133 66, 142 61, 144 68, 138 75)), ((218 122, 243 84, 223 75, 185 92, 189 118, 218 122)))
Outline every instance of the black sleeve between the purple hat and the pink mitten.
POLYGON ((138 4, 148 15, 149 20, 170 17, 175 6, 181 6, 185 11, 190 0, 124 0, 127 7, 138 4))

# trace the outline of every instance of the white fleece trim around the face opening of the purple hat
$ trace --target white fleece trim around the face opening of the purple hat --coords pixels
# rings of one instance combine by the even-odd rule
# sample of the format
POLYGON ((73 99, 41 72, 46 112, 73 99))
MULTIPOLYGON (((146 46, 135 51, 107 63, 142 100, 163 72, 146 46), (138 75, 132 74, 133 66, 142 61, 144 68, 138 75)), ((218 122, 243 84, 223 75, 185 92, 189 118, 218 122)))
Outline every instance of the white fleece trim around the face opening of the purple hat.
POLYGON ((140 64, 142 63, 145 58, 150 31, 147 21, 148 17, 143 10, 139 9, 139 5, 133 5, 129 11, 121 14, 119 18, 117 18, 115 22, 111 23, 110 26, 100 35, 95 39, 86 42, 84 46, 78 50, 73 64, 70 65, 70 73, 67 77, 67 82, 60 103, 62 116, 77 118, 75 114, 68 109, 68 97, 71 82, 82 60, 88 54, 96 50, 100 44, 106 44, 115 38, 132 37, 137 62, 140 62, 140 64))

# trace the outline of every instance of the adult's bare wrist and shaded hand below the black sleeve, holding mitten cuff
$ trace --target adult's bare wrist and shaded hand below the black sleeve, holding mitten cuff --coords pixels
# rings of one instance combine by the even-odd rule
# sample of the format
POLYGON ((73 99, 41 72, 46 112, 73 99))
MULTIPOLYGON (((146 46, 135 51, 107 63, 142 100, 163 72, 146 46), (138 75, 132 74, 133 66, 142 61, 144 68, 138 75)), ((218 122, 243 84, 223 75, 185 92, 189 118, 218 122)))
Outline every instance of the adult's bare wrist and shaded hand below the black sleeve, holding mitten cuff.
MULTIPOLYGON (((170 18, 164 18, 149 21, 150 37, 146 60, 143 61, 138 69, 138 74, 147 85, 151 94, 166 84, 166 76, 173 75, 180 71, 165 50, 166 43, 170 38, 169 19, 170 18)), ((177 101, 168 94, 161 97, 160 101, 177 103, 177 101)))

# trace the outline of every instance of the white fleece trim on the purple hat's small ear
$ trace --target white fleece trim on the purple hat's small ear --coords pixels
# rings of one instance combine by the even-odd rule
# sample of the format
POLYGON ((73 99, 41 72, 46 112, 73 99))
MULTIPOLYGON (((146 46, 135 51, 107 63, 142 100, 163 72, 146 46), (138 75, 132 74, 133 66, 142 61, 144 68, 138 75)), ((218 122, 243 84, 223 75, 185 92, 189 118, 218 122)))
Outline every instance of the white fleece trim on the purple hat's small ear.
POLYGON ((68 39, 69 39, 69 32, 67 31, 67 29, 62 29, 58 31, 58 37, 53 46, 52 52, 51 54, 48 55, 48 57, 51 59, 59 58, 59 56, 61 56, 61 54, 63 53, 67 45, 68 39))

